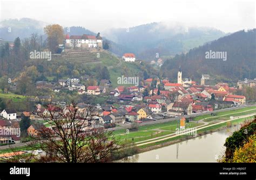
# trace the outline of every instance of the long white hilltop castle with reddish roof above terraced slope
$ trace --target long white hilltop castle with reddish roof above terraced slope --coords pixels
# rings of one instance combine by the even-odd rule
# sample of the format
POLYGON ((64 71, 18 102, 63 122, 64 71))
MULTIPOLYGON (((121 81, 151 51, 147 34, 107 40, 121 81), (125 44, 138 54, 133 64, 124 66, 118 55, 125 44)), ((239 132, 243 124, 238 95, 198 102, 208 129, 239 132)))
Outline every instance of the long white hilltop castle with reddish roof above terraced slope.
POLYGON ((66 34, 65 47, 82 47, 82 48, 103 48, 103 40, 98 33, 95 35, 71 35, 66 34))

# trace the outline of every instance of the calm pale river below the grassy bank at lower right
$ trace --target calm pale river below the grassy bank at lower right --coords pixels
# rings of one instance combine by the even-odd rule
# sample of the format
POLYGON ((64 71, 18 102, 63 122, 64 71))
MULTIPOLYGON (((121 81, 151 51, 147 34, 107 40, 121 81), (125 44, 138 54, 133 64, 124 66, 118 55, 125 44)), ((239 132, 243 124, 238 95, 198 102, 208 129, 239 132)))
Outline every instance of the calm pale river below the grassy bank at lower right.
POLYGON ((174 145, 140 153, 129 159, 131 162, 217 162, 217 159, 225 152, 226 138, 237 129, 239 129, 238 126, 226 128, 174 145))

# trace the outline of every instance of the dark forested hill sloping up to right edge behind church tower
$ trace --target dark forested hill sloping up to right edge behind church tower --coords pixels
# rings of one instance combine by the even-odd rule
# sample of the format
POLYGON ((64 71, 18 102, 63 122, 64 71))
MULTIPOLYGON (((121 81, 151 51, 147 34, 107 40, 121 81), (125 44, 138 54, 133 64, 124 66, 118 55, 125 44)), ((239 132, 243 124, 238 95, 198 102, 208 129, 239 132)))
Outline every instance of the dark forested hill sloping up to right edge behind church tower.
POLYGON ((247 32, 235 32, 165 61, 161 73, 163 76, 177 79, 177 69, 181 66, 183 77, 191 77, 196 80, 199 80, 203 73, 227 82, 255 78, 255 38, 256 29, 247 32), (226 52, 226 61, 207 59, 206 52, 210 52, 210 50, 212 52, 226 52))

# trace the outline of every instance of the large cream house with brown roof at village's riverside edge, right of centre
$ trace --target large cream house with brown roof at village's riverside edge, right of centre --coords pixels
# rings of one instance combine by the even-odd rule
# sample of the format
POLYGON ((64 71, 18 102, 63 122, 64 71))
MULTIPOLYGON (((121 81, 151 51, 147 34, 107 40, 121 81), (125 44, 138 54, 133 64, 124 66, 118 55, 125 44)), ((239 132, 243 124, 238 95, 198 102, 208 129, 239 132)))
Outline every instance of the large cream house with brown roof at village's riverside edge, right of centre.
POLYGON ((192 114, 191 103, 174 102, 167 106, 167 114, 169 116, 181 116, 183 114, 192 114))

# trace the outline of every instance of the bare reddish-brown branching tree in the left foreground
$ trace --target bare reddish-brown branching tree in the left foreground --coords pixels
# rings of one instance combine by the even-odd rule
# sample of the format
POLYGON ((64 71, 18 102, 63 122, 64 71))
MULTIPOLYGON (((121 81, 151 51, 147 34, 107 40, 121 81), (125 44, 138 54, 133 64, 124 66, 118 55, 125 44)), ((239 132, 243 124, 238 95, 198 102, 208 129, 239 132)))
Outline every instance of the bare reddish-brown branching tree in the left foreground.
POLYGON ((48 105, 47 110, 49 113, 41 116, 51 128, 41 129, 33 141, 46 153, 39 162, 110 162, 112 154, 124 148, 112 132, 94 128, 91 107, 79 110, 76 105, 65 109, 48 105))

